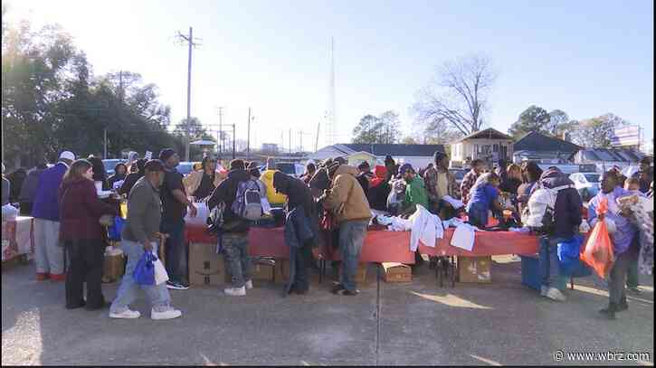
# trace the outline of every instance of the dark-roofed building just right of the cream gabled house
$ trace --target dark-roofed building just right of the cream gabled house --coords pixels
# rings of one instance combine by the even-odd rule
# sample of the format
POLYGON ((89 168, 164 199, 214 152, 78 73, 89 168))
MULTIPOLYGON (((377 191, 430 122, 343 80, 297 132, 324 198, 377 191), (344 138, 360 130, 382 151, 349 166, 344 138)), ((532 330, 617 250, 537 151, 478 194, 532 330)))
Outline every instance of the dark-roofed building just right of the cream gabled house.
POLYGON ((580 146, 564 139, 530 132, 515 141, 512 160, 516 164, 528 160, 542 164, 565 164, 571 162, 580 149, 580 146))

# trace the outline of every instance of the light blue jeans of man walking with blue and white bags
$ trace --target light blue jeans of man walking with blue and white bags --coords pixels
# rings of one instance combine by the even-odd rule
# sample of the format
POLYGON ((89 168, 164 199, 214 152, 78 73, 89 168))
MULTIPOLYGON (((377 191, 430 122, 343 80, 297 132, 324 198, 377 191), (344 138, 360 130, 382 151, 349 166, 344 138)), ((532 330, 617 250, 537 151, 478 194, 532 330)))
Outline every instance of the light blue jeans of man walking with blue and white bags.
MULTIPOLYGON (((114 302, 111 303, 111 313, 123 313, 128 310, 129 304, 137 298, 138 289, 141 288, 146 292, 153 309, 157 312, 168 310, 171 303, 171 296, 166 289, 166 282, 159 285, 138 285, 132 278, 132 274, 137 267, 139 259, 144 255, 144 247, 134 241, 121 241, 120 248, 128 257, 128 264, 125 267, 125 275, 120 282, 119 292, 114 302)), ((157 254, 157 243, 153 242, 153 251, 157 254)))

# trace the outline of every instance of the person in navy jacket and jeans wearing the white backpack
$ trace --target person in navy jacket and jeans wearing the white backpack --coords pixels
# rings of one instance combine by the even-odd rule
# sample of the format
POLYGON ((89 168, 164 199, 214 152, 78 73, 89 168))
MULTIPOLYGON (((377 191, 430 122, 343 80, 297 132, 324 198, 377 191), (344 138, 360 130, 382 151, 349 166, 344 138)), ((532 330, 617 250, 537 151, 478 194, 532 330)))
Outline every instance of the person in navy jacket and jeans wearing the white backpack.
POLYGON ((583 219, 583 202, 574 182, 557 168, 544 172, 537 186, 547 189, 560 188, 554 206, 556 217, 554 229, 540 237, 538 258, 542 276, 540 295, 556 301, 565 301, 565 295, 557 288, 560 276, 558 243, 572 241, 578 233, 583 219))

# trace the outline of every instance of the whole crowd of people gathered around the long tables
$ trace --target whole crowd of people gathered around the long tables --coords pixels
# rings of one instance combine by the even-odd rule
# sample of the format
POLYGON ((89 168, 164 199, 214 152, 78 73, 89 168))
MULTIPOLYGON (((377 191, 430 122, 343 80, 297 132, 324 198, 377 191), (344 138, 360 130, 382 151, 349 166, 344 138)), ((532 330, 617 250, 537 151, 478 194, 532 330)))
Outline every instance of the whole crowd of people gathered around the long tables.
MULTIPOLYGON (((112 188, 128 201, 127 221, 121 233, 121 247, 128 262, 109 316, 138 317, 129 304, 142 288, 152 304, 154 319, 181 316, 170 306, 167 289, 189 288, 185 217, 195 217, 195 203, 222 213, 219 248, 231 276, 231 285, 224 293, 243 296, 253 288, 248 251, 252 221, 241 212, 244 190, 249 192, 251 183, 261 198, 263 217, 280 208, 287 216, 285 241, 292 250, 287 293, 303 295, 309 291, 309 269, 316 265, 316 249, 322 243, 327 251, 338 251, 341 256, 341 262, 333 265, 339 280, 332 292, 345 296, 358 294, 357 265, 372 210, 407 218, 422 206, 442 220, 458 216, 482 229, 488 228, 491 212, 499 219, 499 226, 508 227, 520 221, 520 213, 537 189, 550 188, 557 191, 555 223, 553 229, 539 234, 540 293, 566 300, 557 287, 557 244, 579 232, 585 221, 585 206, 574 184, 557 167, 544 172, 535 162, 499 162, 496 167, 488 167, 477 159, 471 161, 470 171, 458 185, 449 171, 449 156, 443 152, 435 152, 433 163, 422 169, 398 165, 391 156, 385 157, 384 165, 373 168, 367 162, 354 167, 347 165, 343 157, 334 157, 308 164, 299 178, 282 174, 273 159, 268 160, 262 173, 255 163, 235 159, 223 168, 217 159, 208 156, 200 170, 183 177, 176 170, 178 164, 177 153, 166 148, 157 159, 116 165, 114 175, 108 178, 97 157, 75 160, 71 152, 65 151, 52 167, 37 165, 24 173, 19 189, 10 189, 3 177, 3 205, 12 195, 21 203, 20 211, 34 218, 36 278, 65 280, 67 308, 105 307, 100 281, 107 237, 103 224, 108 216, 119 215, 119 206, 100 199, 99 193, 112 188), (162 237, 166 239, 169 280, 166 285, 136 284, 131 276, 138 260, 145 251, 157 252, 162 237), (67 267, 64 259, 69 262, 67 267), (86 300, 82 297, 85 282, 86 300)), ((587 221, 594 226, 597 221, 611 219, 617 228, 612 234, 616 260, 608 278, 610 301, 602 311, 613 318, 615 312, 628 307, 625 287, 639 291, 637 249, 642 244, 631 212, 611 204, 611 211, 598 216, 595 209, 603 198, 616 203, 617 198, 629 194, 652 196, 651 161, 643 160, 640 171, 630 178, 613 168, 603 174, 601 186, 589 203, 587 221)))

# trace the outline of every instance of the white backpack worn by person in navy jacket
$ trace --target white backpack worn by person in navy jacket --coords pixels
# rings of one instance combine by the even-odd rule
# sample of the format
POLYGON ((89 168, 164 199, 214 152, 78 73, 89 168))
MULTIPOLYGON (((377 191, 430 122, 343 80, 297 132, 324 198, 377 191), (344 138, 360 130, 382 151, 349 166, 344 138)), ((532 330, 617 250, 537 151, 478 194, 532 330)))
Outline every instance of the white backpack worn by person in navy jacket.
POLYGON ((574 188, 574 185, 556 186, 556 188, 534 187, 524 208, 521 221, 525 226, 542 233, 556 230, 556 198, 562 190, 574 188))

